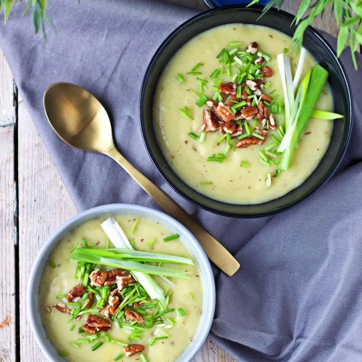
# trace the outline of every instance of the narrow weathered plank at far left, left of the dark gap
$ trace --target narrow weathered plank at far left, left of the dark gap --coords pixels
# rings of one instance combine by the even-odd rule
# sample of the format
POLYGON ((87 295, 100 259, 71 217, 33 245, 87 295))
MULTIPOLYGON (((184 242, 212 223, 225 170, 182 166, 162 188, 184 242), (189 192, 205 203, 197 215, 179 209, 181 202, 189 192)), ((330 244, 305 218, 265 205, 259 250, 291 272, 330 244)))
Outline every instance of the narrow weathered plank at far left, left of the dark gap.
POLYGON ((0 50, 0 361, 15 361, 14 80, 0 50))

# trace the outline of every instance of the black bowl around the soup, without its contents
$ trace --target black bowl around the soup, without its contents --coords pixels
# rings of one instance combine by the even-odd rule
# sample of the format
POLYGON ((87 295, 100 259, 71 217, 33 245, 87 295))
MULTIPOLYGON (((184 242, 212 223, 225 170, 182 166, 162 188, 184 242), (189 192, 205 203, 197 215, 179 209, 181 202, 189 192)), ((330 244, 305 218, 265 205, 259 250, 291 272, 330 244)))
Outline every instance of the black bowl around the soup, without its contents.
POLYGON ((287 210, 302 202, 320 189, 331 177, 344 155, 351 133, 353 116, 352 98, 344 68, 337 59, 332 47, 317 31, 308 27, 304 35, 303 46, 315 57, 321 66, 328 70, 328 81, 333 92, 335 112, 345 115, 345 118, 334 121, 331 142, 326 154, 318 167, 301 186, 281 198, 263 204, 232 205, 199 194, 186 185, 167 164, 156 139, 153 128, 153 115, 150 112, 153 108, 153 97, 158 79, 167 62, 190 39, 219 25, 230 23, 257 24, 274 28, 289 36, 293 36, 295 27, 291 27, 292 15, 272 9, 256 21, 261 14, 261 10, 262 7, 223 7, 197 15, 179 26, 156 51, 147 68, 141 88, 140 119, 142 135, 154 165, 166 182, 177 193, 203 209, 226 216, 265 216, 287 210))

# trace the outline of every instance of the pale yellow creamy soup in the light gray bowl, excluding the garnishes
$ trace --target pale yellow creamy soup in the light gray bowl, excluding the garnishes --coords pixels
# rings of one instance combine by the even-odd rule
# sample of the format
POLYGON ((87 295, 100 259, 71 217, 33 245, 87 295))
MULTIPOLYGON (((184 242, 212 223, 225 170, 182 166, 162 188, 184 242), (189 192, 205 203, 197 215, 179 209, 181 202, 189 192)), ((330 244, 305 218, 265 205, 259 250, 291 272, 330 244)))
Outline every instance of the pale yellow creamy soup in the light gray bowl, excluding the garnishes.
MULTIPOLYGON (((129 234, 135 217, 123 215, 115 219, 119 222, 125 233, 129 234)), ((170 279, 174 284, 173 287, 166 284, 161 278, 154 277, 157 284, 167 295, 170 295, 167 309, 182 309, 185 312, 185 316, 182 316, 183 313, 179 315, 174 311, 164 314, 161 317, 162 320, 157 322, 159 324, 153 325, 151 328, 145 326, 144 322, 136 324, 142 328, 139 334, 139 340, 129 340, 133 332, 131 329, 128 329, 127 326, 125 327, 125 325, 132 325, 132 323, 121 319, 121 326, 123 326, 121 329, 118 323, 111 321, 112 328, 107 332, 107 337, 103 336, 94 339, 91 343, 81 343, 79 341, 86 338, 86 335, 85 333, 81 335, 81 331, 78 331, 78 328, 84 325, 87 314, 83 314, 78 321, 71 320, 67 322, 69 313, 62 313, 54 307, 60 302, 66 302, 65 298, 57 299, 57 296, 66 295, 73 287, 79 284, 79 281, 73 275, 76 261, 69 258, 74 245, 76 243, 80 245, 81 239, 84 238, 86 243, 91 243, 91 245, 95 244, 96 246, 94 247, 106 247, 108 238, 100 226, 104 220, 105 219, 98 219, 83 224, 61 240, 50 255, 49 259, 54 262, 55 267, 52 268, 52 266, 48 264, 45 266, 40 283, 39 295, 40 312, 46 334, 56 350, 63 354, 64 359, 67 361, 110 362, 117 356, 119 358, 117 359, 118 361, 141 361, 142 359, 139 353, 133 356, 123 355, 120 357, 120 354, 124 353, 124 345, 127 344, 141 344, 144 346, 142 354, 148 362, 174 361, 193 340, 202 313, 203 294, 196 263, 194 263, 194 265, 162 264, 162 266, 170 266, 190 272, 188 279, 170 279), (173 291, 172 294, 171 291, 173 291), (73 326, 73 324, 75 324, 75 326, 73 326), (115 342, 107 342, 107 339, 117 340, 123 343, 123 345, 115 342), (92 351, 91 346, 94 345, 97 340, 103 341, 104 344, 92 351), (152 342, 150 343, 151 340, 153 340, 153 344, 152 342)), ((173 234, 172 230, 167 230, 159 223, 149 219, 139 218, 138 220, 138 225, 132 235, 135 249, 186 256, 193 259, 190 251, 180 239, 173 239, 168 242, 163 241, 165 237, 173 234)), ((101 267, 101 270, 109 269, 112 268, 101 267)), ((113 288, 115 288, 115 286, 113 288)), ((94 308, 95 306, 92 307, 92 310, 94 308)), ((132 306, 130 308, 133 309, 132 306)), ((152 315, 155 312, 155 308, 147 309, 146 304, 143 304, 143 302, 141 302, 137 308, 136 310, 141 309, 148 315, 152 315)), ((98 311, 101 311, 101 309, 98 311)), ((144 313, 142 316, 146 318, 144 313)), ((96 314, 101 316, 99 313, 96 314)), ((102 336, 102 334, 98 335, 102 336)))

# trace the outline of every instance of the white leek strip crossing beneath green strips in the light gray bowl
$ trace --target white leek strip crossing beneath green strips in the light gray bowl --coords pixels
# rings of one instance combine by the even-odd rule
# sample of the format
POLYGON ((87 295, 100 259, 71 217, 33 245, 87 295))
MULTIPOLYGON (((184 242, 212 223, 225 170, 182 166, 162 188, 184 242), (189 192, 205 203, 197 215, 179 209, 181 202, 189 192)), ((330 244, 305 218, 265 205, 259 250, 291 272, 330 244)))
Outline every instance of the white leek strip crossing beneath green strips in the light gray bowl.
MULTIPOLYGON (((101 227, 108 235, 114 246, 119 248, 133 249, 132 245, 127 239, 127 236, 115 219, 108 218, 101 224, 101 227)), ((157 299, 163 305, 166 304, 166 298, 163 295, 162 288, 157 285, 150 275, 138 273, 137 271, 134 272, 134 275, 151 299, 157 299)))

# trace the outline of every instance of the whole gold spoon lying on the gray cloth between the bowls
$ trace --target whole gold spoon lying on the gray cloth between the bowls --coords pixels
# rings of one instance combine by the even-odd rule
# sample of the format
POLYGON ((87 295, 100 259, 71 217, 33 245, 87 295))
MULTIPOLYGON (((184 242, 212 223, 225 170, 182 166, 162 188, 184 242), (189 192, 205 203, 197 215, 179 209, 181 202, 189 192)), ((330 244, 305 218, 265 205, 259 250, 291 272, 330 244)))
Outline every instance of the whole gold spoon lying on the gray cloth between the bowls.
POLYGON ((133 167, 116 149, 111 122, 101 103, 85 89, 59 82, 44 94, 44 109, 56 134, 68 145, 112 157, 168 215, 184 224, 199 240, 208 257, 232 276, 238 261, 200 224, 133 167))

